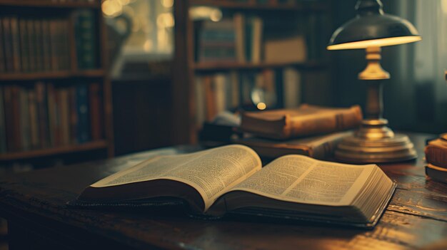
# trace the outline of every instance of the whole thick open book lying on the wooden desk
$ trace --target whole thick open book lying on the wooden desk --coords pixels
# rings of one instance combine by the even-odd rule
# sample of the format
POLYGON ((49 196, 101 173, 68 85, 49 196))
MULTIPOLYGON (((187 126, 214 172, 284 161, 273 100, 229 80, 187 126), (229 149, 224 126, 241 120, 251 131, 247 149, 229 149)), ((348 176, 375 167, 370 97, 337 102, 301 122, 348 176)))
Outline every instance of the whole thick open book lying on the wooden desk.
POLYGON ((262 167, 242 145, 154 157, 86 187, 74 205, 181 199, 194 214, 374 226, 396 184, 376 165, 286 155, 262 167), (163 198, 163 199, 160 199, 163 198))

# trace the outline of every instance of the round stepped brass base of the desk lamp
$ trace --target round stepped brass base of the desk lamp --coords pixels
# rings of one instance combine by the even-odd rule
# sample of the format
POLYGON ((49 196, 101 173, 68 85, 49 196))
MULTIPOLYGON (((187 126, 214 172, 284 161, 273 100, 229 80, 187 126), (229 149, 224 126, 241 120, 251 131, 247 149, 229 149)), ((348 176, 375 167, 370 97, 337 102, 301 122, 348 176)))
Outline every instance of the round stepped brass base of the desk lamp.
POLYGON ((337 160, 351 163, 401 162, 418 157, 408 136, 394 135, 387 120, 363 120, 355 135, 338 144, 337 160))

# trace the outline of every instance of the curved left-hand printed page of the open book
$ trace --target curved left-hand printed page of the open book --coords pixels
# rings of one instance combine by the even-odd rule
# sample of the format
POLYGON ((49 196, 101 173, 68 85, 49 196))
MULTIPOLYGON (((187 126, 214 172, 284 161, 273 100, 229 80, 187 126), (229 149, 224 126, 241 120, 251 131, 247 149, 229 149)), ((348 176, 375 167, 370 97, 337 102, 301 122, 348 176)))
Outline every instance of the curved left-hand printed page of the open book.
POLYGON ((91 184, 109 187, 152 179, 172 179, 191 185, 206 209, 226 190, 261 170, 256 152, 242 145, 217 147, 186 155, 155 157, 91 184))

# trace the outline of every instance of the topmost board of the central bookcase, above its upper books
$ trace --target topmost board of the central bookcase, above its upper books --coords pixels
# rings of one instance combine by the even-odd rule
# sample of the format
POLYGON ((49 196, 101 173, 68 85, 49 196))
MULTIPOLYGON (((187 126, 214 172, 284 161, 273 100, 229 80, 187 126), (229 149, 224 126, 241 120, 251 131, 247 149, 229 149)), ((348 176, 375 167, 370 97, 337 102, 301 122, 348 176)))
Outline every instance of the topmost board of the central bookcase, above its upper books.
POLYGON ((251 9, 268 11, 328 11, 329 6, 326 2, 309 1, 298 2, 296 4, 258 4, 251 2, 236 2, 222 0, 191 0, 191 6, 214 6, 226 9, 251 9))

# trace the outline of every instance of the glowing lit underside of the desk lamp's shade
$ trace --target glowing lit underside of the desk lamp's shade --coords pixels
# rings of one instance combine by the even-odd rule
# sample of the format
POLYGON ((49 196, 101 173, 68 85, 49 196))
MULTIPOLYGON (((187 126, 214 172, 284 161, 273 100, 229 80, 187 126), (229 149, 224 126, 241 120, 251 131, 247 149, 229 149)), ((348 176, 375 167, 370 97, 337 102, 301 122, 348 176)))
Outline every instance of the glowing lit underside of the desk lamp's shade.
POLYGON ((341 49, 356 49, 356 48, 368 48, 368 47, 383 47, 392 46, 403 43, 413 43, 416 41, 421 41, 421 36, 399 36, 391 38, 381 38, 366 41, 356 41, 352 43, 341 43, 336 45, 328 46, 329 51, 341 50, 341 49))

